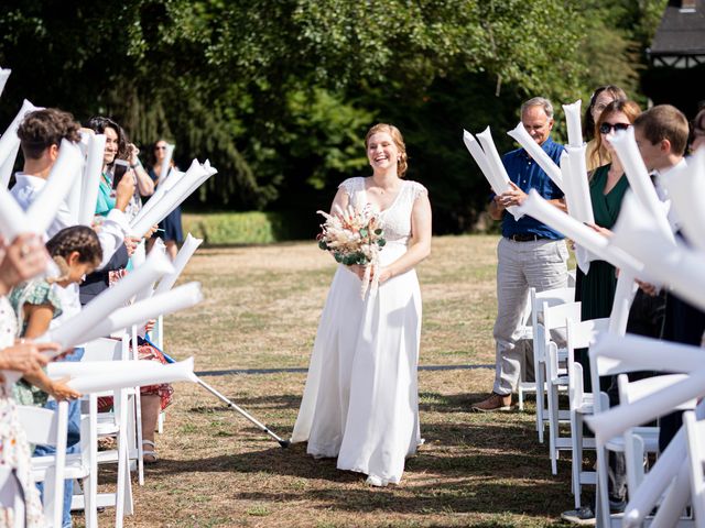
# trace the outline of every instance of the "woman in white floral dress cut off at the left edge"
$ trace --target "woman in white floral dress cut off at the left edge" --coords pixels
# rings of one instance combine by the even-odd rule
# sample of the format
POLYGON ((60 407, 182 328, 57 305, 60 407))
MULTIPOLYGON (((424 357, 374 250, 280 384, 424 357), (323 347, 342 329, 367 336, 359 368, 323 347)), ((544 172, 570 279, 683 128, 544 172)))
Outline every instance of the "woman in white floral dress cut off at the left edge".
MULTIPOLYGON (((56 345, 50 343, 14 344, 17 318, 6 298, 12 287, 41 273, 45 266, 46 251, 37 237, 22 234, 9 245, 0 237, 0 374, 14 371, 25 376, 35 375, 46 365, 41 351, 56 350, 56 345)), ((10 470, 0 488, 1 526, 46 526, 32 479, 31 457, 12 389, 0 383, 0 466, 10 470)))

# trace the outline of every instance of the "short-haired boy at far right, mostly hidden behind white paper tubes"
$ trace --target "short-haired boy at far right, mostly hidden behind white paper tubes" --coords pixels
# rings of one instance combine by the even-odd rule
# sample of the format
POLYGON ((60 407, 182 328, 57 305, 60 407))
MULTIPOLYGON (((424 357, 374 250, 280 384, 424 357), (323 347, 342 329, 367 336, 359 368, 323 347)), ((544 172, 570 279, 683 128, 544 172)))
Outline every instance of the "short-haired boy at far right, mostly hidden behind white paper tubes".
MULTIPOLYGON (((701 116, 702 119, 702 116, 701 116)), ((655 176, 657 193, 661 199, 668 199, 663 182, 672 170, 685 165, 688 127, 685 116, 675 107, 660 105, 642 113, 634 122, 634 138, 647 168, 655 176)), ((688 243, 679 230, 679 219, 669 212, 669 222, 676 232, 680 242, 688 243)), ((641 292, 640 292, 641 293, 641 292)), ((705 331, 705 314, 690 302, 668 293, 659 306, 663 316, 661 337, 677 343, 701 344, 705 331)), ((634 299, 636 300, 636 299, 634 299)), ((682 425, 682 413, 672 413, 659 420, 659 449, 663 451, 682 425)))

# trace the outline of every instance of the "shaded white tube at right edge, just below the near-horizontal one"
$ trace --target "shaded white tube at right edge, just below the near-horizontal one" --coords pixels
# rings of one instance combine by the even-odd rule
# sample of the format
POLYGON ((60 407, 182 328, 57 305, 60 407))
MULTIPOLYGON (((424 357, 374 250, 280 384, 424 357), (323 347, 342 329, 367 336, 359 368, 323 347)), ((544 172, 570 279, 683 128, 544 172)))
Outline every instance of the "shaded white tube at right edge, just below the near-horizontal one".
POLYGON ((701 370, 692 372, 682 382, 677 382, 632 404, 618 405, 605 413, 587 416, 585 421, 595 432, 595 442, 598 446, 605 446, 610 439, 622 435, 630 427, 637 427, 654 420, 672 413, 680 405, 704 395, 705 369, 701 367, 701 370))

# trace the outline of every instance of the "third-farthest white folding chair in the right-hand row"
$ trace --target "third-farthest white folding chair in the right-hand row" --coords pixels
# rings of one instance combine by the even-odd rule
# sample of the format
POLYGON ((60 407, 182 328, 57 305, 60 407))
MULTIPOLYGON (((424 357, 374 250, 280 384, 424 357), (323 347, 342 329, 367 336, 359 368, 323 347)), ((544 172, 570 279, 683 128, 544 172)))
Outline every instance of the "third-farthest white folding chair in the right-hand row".
POLYGON ((575 361, 575 351, 589 349, 597 334, 607 331, 608 326, 609 319, 605 318, 581 322, 568 321, 566 327, 571 450, 573 452, 572 488, 576 509, 581 507, 582 485, 595 485, 596 475, 594 471, 583 471, 583 450, 595 449, 595 439, 583 437, 583 417, 593 414, 594 393, 585 392, 583 365, 575 361))

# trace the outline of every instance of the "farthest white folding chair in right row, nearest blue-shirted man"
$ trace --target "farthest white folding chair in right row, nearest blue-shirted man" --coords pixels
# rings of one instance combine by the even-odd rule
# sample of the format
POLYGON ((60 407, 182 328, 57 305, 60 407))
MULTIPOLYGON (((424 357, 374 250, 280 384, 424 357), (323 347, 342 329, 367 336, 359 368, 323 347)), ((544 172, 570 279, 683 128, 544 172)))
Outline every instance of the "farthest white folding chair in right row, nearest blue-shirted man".
POLYGON ((536 292, 535 288, 529 290, 529 307, 531 309, 531 333, 525 332, 527 339, 533 342, 533 382, 521 382, 519 384, 519 410, 523 410, 525 393, 536 394, 536 431, 539 442, 543 443, 545 417, 545 337, 543 331, 543 302, 555 306, 575 300, 575 288, 556 288, 544 292, 536 292))

